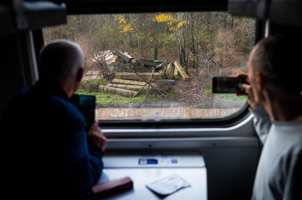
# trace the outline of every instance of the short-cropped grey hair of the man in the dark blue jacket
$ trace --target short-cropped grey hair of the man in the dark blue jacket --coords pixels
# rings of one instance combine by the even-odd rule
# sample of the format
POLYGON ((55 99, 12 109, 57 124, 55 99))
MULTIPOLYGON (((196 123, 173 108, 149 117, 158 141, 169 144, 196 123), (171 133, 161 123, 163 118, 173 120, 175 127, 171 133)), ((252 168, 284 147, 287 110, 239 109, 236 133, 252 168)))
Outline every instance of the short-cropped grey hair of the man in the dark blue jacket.
POLYGON ((76 75, 83 62, 82 49, 75 42, 50 42, 40 51, 40 77, 66 83, 76 75))

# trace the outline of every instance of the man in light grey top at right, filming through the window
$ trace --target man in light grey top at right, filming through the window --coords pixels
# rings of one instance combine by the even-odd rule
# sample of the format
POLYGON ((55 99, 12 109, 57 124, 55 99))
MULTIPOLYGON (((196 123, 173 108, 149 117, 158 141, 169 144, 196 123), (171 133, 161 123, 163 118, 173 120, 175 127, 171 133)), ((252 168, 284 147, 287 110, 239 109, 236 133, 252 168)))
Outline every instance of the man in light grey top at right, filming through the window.
POLYGON ((253 48, 243 84, 263 143, 252 199, 302 199, 302 70, 298 40, 270 36, 253 48))

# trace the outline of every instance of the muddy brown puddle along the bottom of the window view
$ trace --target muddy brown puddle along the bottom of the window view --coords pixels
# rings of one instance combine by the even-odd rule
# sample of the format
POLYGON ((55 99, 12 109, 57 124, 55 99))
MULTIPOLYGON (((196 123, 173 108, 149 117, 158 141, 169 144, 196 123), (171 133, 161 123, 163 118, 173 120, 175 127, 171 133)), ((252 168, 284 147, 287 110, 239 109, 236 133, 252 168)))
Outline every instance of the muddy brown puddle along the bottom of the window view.
POLYGON ((172 108, 98 108, 95 117, 99 120, 160 120, 160 119, 194 119, 217 118, 233 114, 241 108, 200 109, 190 107, 172 108))

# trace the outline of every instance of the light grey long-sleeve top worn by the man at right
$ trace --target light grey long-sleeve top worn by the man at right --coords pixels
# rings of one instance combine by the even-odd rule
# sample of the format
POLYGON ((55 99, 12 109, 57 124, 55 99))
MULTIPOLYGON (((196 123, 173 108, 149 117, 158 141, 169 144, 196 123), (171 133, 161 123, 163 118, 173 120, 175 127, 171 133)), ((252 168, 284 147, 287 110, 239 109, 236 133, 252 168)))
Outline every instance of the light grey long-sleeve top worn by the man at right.
POLYGON ((270 120, 263 106, 251 111, 264 144, 252 199, 302 199, 302 120, 270 120))

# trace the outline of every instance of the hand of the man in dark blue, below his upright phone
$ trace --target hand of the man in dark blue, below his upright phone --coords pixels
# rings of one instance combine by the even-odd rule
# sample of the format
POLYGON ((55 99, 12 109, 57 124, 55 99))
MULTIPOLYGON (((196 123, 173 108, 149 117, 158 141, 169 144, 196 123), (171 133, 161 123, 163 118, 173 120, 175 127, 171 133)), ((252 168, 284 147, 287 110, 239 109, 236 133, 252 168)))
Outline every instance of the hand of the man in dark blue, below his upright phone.
POLYGON ((101 128, 98 126, 98 120, 96 119, 87 133, 87 140, 88 144, 96 145, 100 147, 103 152, 105 151, 107 138, 104 136, 103 131, 101 131, 101 128))

